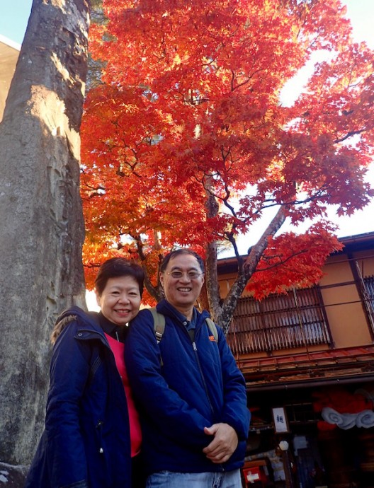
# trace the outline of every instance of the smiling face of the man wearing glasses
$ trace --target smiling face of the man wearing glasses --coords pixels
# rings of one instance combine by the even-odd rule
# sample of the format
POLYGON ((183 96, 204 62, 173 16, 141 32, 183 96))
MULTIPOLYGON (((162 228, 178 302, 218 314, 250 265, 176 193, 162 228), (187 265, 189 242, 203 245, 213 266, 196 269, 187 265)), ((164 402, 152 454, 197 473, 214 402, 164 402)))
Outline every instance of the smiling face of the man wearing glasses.
POLYGON ((166 300, 186 315, 200 295, 204 283, 203 272, 195 256, 180 254, 172 257, 164 272, 160 274, 166 300), (177 275, 174 277, 173 275, 177 275), (178 274, 181 274, 178 277, 178 274))

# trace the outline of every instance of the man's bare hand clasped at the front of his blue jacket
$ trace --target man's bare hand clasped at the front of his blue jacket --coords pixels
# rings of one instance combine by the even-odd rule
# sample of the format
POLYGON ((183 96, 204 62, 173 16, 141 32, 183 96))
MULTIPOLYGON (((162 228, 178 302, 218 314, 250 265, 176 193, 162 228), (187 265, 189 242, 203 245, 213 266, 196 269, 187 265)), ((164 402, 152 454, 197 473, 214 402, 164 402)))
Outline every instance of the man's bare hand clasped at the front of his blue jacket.
POLYGON ((210 427, 204 427, 204 432, 208 436, 214 436, 214 439, 203 449, 206 457, 212 463, 225 463, 231 457, 238 445, 237 433, 229 424, 213 424, 210 427))

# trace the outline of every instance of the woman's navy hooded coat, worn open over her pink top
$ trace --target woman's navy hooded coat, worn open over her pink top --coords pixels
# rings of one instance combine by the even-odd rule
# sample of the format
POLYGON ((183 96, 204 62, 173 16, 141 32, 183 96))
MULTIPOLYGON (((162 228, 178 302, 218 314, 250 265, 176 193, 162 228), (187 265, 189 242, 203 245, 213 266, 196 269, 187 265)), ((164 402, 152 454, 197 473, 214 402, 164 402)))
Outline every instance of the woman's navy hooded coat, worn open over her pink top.
POLYGON ((130 488, 128 408, 113 353, 95 313, 74 307, 60 323, 45 431, 25 488, 130 488))

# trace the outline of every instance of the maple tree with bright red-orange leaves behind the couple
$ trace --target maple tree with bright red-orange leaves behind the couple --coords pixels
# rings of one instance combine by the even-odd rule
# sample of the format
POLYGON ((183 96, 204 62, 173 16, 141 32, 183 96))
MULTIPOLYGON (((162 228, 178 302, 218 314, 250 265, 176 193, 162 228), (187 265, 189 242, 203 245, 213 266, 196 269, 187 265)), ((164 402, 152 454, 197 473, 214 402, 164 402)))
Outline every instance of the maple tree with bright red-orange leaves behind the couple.
POLYGON ((158 299, 160 257, 196 248, 226 331, 246 286, 261 298, 317 282, 340 246, 327 206, 351 214, 373 194, 374 56, 352 41, 340 1, 104 0, 103 9, 106 22, 90 31, 102 83, 81 128, 87 268, 135 257, 158 299), (285 104, 285 83, 322 51, 332 56, 285 104), (271 208, 263 236, 239 255, 237 238, 271 208), (317 223, 278 233, 286 219, 317 223), (222 242, 238 261, 223 303, 222 242))

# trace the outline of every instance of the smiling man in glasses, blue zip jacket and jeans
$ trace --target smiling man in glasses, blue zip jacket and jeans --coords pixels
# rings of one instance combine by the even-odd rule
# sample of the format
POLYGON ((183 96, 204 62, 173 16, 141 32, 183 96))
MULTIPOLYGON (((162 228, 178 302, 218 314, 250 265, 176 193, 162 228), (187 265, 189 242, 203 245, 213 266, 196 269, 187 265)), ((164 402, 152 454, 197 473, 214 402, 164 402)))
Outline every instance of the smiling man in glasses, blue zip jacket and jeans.
POLYGON ((125 359, 142 423, 147 487, 239 488, 249 429, 242 373, 194 307, 204 282, 201 257, 171 252, 160 280, 166 300, 159 344, 149 310, 132 322, 125 359))

